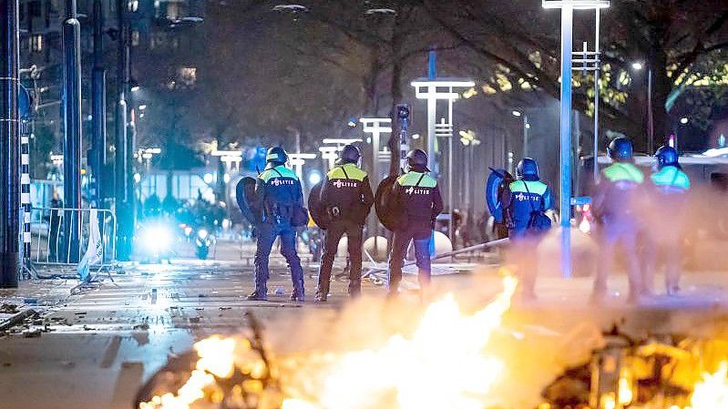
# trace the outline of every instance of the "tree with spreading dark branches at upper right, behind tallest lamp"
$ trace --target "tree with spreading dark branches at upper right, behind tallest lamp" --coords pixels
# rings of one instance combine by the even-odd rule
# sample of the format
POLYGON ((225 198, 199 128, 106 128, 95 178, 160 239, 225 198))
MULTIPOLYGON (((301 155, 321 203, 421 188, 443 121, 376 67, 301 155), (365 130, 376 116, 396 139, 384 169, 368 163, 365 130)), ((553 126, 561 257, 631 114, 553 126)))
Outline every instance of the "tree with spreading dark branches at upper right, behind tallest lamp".
MULTIPOLYGON (((559 17, 538 2, 421 3, 489 68, 485 93, 520 88, 559 97, 559 17)), ((612 2, 602 15, 602 119, 613 130, 641 137, 637 145, 644 148, 645 91, 634 82, 631 64, 640 60, 651 69, 655 134, 660 138, 670 129, 671 101, 706 71, 723 70, 728 6, 719 0, 625 0, 612 2)), ((576 20, 575 38, 593 36, 593 19, 580 14, 576 20)), ((593 76, 579 73, 574 78, 573 105, 583 112, 593 109, 593 81, 593 76)))

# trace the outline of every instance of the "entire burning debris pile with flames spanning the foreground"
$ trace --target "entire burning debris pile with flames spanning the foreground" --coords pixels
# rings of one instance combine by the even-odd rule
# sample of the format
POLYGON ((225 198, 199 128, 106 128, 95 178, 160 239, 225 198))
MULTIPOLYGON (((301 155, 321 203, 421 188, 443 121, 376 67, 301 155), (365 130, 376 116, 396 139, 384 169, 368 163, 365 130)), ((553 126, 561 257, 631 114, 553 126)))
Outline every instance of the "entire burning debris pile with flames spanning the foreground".
POLYGON ((473 313, 448 295, 413 331, 369 347, 275 359, 249 315, 244 336, 212 336, 170 360, 135 408, 728 408, 728 338, 638 342, 588 325, 566 334, 513 327, 504 316, 517 284, 505 277, 473 313))

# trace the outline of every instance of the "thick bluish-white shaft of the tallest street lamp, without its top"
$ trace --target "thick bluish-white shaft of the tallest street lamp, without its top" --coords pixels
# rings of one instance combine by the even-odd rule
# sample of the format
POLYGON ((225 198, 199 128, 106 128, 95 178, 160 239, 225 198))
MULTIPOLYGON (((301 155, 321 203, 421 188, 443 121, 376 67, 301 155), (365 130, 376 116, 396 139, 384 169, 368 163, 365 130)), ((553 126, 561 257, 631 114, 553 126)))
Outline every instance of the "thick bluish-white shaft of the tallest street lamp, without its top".
POLYGON ((561 8, 560 203, 561 274, 571 277, 571 28, 573 6, 561 8))

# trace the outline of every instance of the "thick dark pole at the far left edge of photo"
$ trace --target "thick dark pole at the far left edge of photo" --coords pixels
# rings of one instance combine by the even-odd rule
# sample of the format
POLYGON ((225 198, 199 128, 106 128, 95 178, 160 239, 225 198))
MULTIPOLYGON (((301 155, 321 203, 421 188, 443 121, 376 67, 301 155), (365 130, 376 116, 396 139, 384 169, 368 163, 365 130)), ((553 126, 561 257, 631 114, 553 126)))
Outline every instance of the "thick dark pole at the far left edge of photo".
POLYGON ((0 0, 0 288, 17 288, 20 272, 18 9, 18 0, 0 0))

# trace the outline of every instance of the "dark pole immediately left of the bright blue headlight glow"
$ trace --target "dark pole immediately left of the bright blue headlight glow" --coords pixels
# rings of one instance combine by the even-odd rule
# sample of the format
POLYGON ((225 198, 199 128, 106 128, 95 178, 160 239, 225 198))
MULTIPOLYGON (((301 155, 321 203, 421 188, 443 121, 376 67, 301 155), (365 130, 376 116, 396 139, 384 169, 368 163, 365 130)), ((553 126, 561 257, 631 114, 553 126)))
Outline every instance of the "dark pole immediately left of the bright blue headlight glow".
POLYGON ((117 65, 117 112, 116 112, 116 147, 115 173, 116 173, 116 214, 118 220, 117 229, 117 259, 128 261, 131 256, 131 243, 128 224, 133 220, 128 217, 127 180, 131 178, 127 174, 127 90, 129 83, 128 72, 128 50, 127 50, 127 24, 126 24, 126 1, 117 0, 118 19, 118 65, 117 65))

